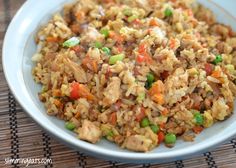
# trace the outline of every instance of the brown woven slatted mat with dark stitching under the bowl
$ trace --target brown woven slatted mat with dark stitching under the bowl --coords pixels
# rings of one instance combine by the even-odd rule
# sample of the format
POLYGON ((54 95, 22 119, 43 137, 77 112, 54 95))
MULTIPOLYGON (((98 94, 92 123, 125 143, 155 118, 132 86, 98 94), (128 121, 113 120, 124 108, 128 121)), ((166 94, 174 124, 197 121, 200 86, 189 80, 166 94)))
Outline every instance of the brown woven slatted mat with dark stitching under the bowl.
MULTIPOLYGON (((11 18, 25 0, 0 0, 0 56, 3 37, 11 18)), ((48 158, 48 164, 34 164, 28 167, 158 167, 158 168, 235 168, 236 137, 213 151, 165 164, 125 164, 108 162, 86 156, 69 149, 53 139, 27 116, 12 96, 5 81, 0 61, 0 168, 25 167, 22 162, 6 164, 9 159, 48 158)))

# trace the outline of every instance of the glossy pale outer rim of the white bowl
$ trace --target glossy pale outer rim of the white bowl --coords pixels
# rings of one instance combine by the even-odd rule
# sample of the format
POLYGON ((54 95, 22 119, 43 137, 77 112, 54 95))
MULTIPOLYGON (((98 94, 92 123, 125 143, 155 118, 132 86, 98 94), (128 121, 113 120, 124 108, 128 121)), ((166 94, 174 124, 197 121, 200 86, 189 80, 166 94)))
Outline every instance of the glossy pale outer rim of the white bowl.
MULTIPOLYGON (((216 3, 212 2, 212 0, 208 0, 208 1, 211 2, 217 8, 220 8, 220 10, 222 12, 227 13, 227 15, 229 17, 236 20, 236 18, 234 16, 232 16, 229 12, 227 12, 225 9, 223 9, 222 7, 217 5, 216 3)), ((66 139, 65 136, 59 134, 57 131, 55 132, 55 130, 53 128, 51 128, 47 125, 44 125, 43 122, 40 121, 40 119, 37 118, 36 115, 33 115, 33 112, 31 112, 28 109, 27 104, 21 99, 22 94, 20 94, 20 92, 14 86, 16 81, 13 82, 8 76, 8 71, 10 70, 8 66, 10 66, 10 65, 7 64, 7 50, 9 50, 10 33, 14 32, 14 27, 15 27, 16 21, 20 19, 20 16, 27 10, 28 7, 32 6, 34 4, 34 2, 35 2, 34 0, 26 1, 21 6, 21 8, 18 10, 16 15, 12 19, 11 23, 9 24, 9 27, 6 31, 6 34, 4 37, 4 42, 3 42, 3 50, 2 50, 3 71, 4 71, 6 81, 8 83, 8 86, 9 86, 12 94, 16 98, 16 100, 21 105, 21 107, 26 111, 26 113, 31 118, 33 118, 33 120, 37 124, 39 124, 41 126, 41 128, 43 128, 48 133, 50 133, 50 135, 53 135, 54 137, 59 139, 62 143, 69 145, 73 149, 81 150, 85 153, 89 153, 93 156, 101 157, 103 159, 109 158, 111 160, 120 160, 120 161, 126 161, 126 162, 127 161, 128 162, 137 162, 137 161, 153 162, 153 161, 157 161, 157 160, 161 161, 161 160, 165 160, 165 159, 176 160, 175 159, 176 157, 186 157, 186 156, 190 156, 195 153, 198 153, 198 152, 206 151, 206 149, 209 149, 210 147, 213 147, 219 143, 222 143, 225 140, 229 139, 230 137, 232 137, 233 135, 236 134, 236 131, 235 132, 227 132, 227 134, 225 134, 224 137, 222 137, 221 139, 211 139, 210 143, 203 143, 203 144, 198 144, 195 146, 193 145, 191 147, 191 150, 189 150, 189 148, 186 148, 186 149, 184 148, 184 149, 178 149, 175 151, 170 150, 168 152, 162 152, 161 154, 160 153, 136 153, 136 152, 130 152, 130 151, 128 151, 128 152, 126 152, 126 151, 112 151, 112 150, 104 149, 104 148, 99 147, 97 145, 90 144, 90 143, 87 143, 87 142, 84 142, 81 140, 78 140, 79 141, 79 144, 78 144, 78 143, 75 143, 73 140, 66 139)))

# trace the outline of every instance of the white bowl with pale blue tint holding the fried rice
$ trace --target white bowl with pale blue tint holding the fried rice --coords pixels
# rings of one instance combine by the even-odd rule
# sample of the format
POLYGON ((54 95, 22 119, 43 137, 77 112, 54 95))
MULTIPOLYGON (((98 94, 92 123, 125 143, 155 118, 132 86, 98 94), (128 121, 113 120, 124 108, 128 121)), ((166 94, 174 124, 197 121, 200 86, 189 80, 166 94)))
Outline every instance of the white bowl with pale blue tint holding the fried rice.
MULTIPOLYGON (((64 3, 71 1, 26 1, 12 20, 4 40, 3 68, 7 82, 21 106, 41 127, 75 150, 106 160, 133 163, 165 162, 181 159, 206 151, 236 133, 236 114, 233 114, 226 121, 217 123, 203 131, 194 142, 178 140, 175 147, 171 149, 161 145, 148 153, 135 153, 121 149, 106 140, 102 140, 97 144, 81 141, 76 138, 75 134, 64 128, 63 121, 48 116, 37 96, 40 86, 35 84, 31 75, 33 67, 31 57, 36 50, 34 35, 40 25, 46 23, 56 11, 62 8, 64 3)), ((231 25, 236 30, 236 21, 232 16, 210 1, 199 0, 199 2, 211 8, 219 22, 231 25)), ((224 4, 223 1, 219 0, 218 3, 224 4)), ((225 3, 230 6, 228 1, 225 3)), ((230 3, 236 4, 233 0, 230 3)))

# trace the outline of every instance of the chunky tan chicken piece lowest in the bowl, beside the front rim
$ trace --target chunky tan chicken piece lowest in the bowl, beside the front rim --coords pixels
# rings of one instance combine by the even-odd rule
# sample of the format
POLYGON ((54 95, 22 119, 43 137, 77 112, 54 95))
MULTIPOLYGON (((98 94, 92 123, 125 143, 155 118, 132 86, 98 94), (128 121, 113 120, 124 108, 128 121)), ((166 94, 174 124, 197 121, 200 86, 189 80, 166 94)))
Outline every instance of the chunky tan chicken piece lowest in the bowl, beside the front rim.
POLYGON ((143 135, 132 135, 125 140, 123 145, 129 150, 147 152, 152 146, 152 140, 143 135))

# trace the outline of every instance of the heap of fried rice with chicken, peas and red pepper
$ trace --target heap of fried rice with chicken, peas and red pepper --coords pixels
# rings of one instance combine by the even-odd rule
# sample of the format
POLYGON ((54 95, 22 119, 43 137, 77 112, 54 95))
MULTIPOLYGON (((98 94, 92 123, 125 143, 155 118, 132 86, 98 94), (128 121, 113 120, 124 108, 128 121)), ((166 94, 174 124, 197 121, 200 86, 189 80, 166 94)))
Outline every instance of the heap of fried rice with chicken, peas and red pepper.
POLYGON ((192 0, 78 0, 36 43, 39 99, 81 140, 147 152, 232 115, 235 33, 192 0))

